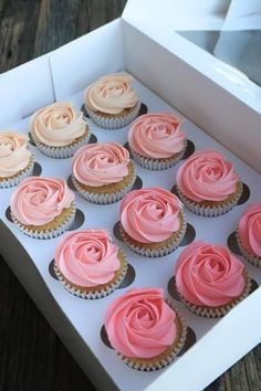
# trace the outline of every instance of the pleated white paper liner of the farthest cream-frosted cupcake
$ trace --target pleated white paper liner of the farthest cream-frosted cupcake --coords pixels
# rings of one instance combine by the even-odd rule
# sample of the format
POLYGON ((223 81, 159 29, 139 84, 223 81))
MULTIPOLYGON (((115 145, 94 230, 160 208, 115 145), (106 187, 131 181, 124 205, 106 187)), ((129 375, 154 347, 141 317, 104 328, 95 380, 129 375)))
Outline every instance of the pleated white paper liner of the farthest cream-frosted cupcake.
POLYGON ((104 128, 107 130, 114 130, 114 129, 119 129, 128 124, 130 124, 137 116, 140 109, 140 102, 138 102, 133 109, 129 112, 129 114, 126 114, 123 117, 105 117, 101 116, 97 113, 93 112, 88 107, 84 106, 85 110, 87 112, 87 115, 100 128, 104 128))

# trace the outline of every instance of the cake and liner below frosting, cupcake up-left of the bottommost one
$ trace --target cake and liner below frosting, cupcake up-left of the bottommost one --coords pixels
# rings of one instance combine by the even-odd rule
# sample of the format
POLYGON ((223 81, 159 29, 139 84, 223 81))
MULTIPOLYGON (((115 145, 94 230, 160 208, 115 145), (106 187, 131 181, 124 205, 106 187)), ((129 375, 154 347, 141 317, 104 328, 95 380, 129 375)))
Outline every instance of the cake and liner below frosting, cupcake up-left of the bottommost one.
POLYGON ((72 295, 85 299, 103 298, 105 296, 111 295, 122 284, 127 273, 127 260, 122 250, 118 250, 118 258, 121 261, 121 268, 115 273, 114 278, 107 284, 98 285, 95 287, 86 288, 86 287, 81 287, 72 284, 63 276, 63 274, 59 271, 56 265, 54 265, 54 272, 58 278, 60 279, 60 282, 65 287, 65 289, 70 292, 72 295))

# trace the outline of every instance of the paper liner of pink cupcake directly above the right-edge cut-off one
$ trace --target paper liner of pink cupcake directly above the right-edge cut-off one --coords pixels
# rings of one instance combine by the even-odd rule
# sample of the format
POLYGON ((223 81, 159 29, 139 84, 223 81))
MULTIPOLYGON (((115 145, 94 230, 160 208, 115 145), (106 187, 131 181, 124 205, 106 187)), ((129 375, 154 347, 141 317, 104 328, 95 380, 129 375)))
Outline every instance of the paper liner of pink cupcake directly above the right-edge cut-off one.
MULTIPOLYGON (((242 186, 241 186, 242 189, 242 186)), ((231 209, 233 209, 233 207, 237 205, 242 190, 234 197, 233 200, 231 200, 228 203, 223 203, 220 204, 218 207, 203 207, 203 205, 199 205, 197 202, 189 200, 186 196, 184 196, 181 193, 181 191, 178 189, 177 187, 177 192, 178 192, 178 197, 180 198, 180 200, 182 201, 182 203, 195 214, 197 215, 201 215, 203 218, 217 218, 218 215, 222 215, 228 213, 231 209)))

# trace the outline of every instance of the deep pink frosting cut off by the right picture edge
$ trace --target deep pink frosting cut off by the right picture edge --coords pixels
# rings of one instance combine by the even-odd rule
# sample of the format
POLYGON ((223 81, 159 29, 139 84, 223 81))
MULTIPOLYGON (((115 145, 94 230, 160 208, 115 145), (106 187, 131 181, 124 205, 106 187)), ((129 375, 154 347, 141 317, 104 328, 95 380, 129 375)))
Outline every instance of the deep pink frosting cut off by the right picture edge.
POLYGON ((261 202, 247 209, 239 221, 238 230, 243 247, 261 257, 261 202))

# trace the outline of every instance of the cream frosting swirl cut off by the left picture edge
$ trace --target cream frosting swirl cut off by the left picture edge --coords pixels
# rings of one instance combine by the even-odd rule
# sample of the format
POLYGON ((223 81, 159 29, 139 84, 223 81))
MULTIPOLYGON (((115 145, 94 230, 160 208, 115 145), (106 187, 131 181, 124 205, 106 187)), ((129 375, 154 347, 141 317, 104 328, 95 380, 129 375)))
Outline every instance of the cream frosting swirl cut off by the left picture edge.
POLYGON ((0 131, 0 178, 10 178, 24 170, 31 158, 25 135, 11 130, 0 131))

